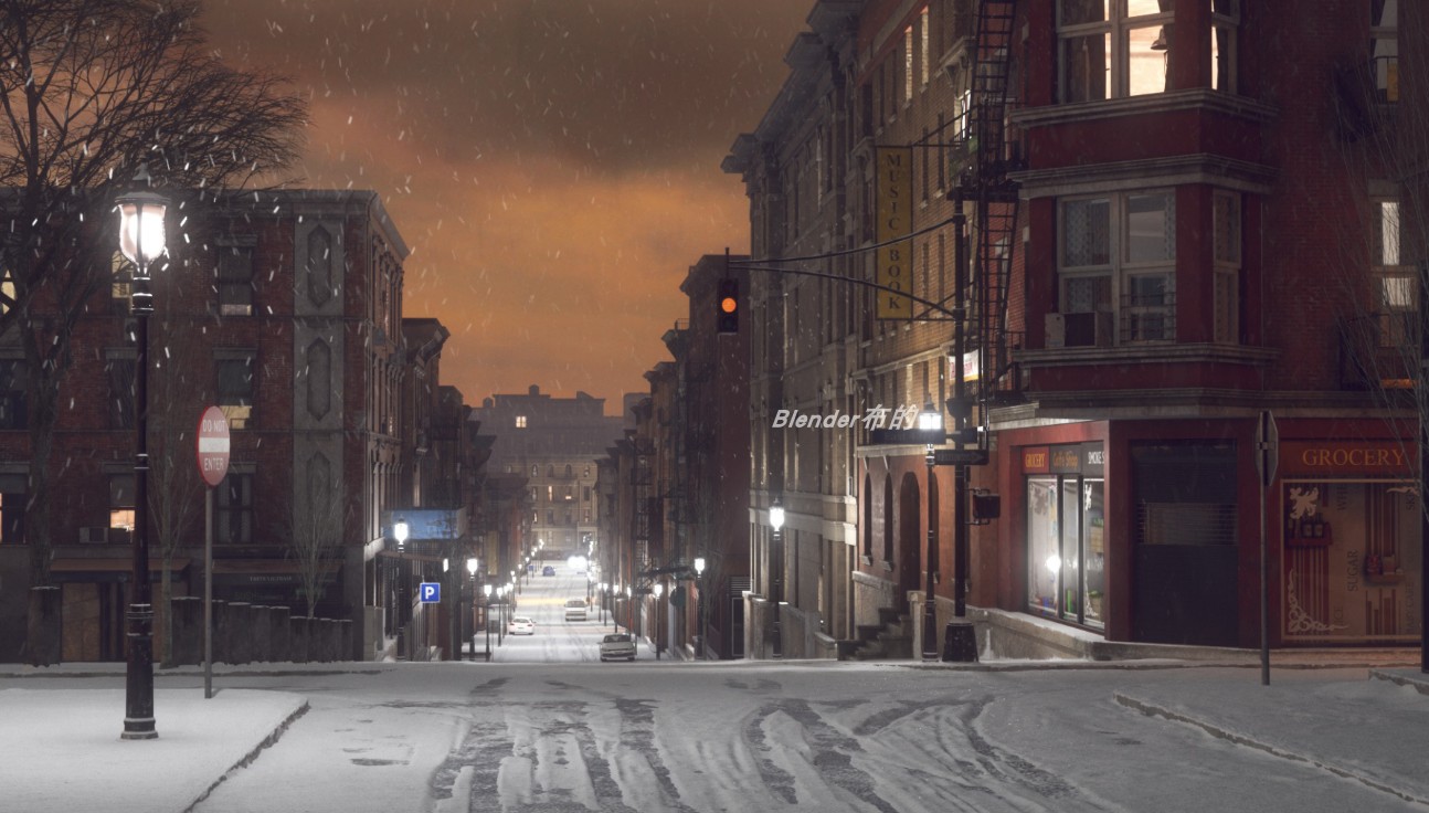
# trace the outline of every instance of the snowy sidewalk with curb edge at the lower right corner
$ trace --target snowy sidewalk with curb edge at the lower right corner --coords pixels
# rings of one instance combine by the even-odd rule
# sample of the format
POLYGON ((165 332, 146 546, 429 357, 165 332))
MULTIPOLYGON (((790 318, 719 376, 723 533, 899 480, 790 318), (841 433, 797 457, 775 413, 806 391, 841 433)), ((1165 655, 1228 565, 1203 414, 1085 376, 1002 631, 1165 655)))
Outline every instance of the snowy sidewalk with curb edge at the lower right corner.
POLYGON ((1258 673, 1120 689, 1116 703, 1429 807, 1429 676, 1375 670, 1363 682, 1258 673), (1296 679, 1298 677, 1298 679, 1296 679), (1398 682, 1395 680, 1398 679, 1398 682))

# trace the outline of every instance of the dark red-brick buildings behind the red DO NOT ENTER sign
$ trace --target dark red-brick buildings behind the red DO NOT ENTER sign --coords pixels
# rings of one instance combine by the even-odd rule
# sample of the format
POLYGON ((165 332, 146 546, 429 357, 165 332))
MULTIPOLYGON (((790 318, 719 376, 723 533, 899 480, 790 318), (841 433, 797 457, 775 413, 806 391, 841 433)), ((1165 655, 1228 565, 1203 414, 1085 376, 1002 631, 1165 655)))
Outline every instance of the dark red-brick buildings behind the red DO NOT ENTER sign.
MULTIPOLYGON (((482 456, 470 407, 439 380, 446 329, 402 316, 409 250, 396 224, 372 191, 167 194, 149 403, 136 403, 131 269, 117 254, 76 321, 73 366, 60 381, 64 407, 43 476, 63 660, 124 659, 139 410, 149 422, 150 567, 171 594, 156 589, 156 614, 173 630, 173 643, 156 636, 156 657, 201 659, 206 534, 220 603, 216 660, 403 654, 393 650, 397 629, 414 622, 410 653, 429 654, 444 643, 437 624, 420 623, 420 604, 393 573, 436 580, 442 557, 433 564, 422 539, 406 560, 389 554, 392 519, 440 529, 424 544, 452 556, 470 532, 482 456), (194 433, 210 404, 227 417, 231 449, 204 527, 194 433), (260 619, 274 630, 262 633, 264 643, 236 632, 263 627, 260 619), (292 639, 310 646, 274 643, 289 639, 287 619, 304 630, 292 639)), ((47 304, 34 307, 43 316, 47 304)), ((0 659, 20 660, 21 586, 39 587, 40 574, 26 516, 27 370, 14 334, 0 340, 0 659)))

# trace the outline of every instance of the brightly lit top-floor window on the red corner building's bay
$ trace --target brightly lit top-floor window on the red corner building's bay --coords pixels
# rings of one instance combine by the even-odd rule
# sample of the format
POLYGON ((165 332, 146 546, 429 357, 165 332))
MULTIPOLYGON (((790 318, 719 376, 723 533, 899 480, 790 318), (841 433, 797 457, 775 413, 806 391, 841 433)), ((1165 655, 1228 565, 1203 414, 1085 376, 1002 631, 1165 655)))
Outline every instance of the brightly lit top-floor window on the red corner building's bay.
POLYGON ((1060 0, 1062 101, 1165 93, 1175 0, 1060 0))

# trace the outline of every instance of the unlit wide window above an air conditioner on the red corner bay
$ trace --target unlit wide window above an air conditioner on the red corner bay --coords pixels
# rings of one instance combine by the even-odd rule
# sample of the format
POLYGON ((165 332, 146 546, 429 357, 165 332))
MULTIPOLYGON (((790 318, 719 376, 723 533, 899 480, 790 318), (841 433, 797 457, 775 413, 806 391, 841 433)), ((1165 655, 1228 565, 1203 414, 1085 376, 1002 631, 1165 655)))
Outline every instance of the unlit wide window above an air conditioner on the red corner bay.
POLYGON ((1063 314, 1110 313, 1120 341, 1176 337, 1176 194, 1063 200, 1063 314))

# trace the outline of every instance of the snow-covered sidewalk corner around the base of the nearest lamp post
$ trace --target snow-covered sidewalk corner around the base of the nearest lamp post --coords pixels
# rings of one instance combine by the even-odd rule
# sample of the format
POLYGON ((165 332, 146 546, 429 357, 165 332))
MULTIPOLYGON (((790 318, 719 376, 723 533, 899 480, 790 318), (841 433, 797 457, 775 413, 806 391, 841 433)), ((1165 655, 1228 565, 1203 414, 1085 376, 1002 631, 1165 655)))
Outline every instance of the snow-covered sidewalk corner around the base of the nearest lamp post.
POLYGON ((156 689, 156 740, 120 740, 123 689, 0 690, 6 810, 183 813, 307 710, 300 694, 156 689))

